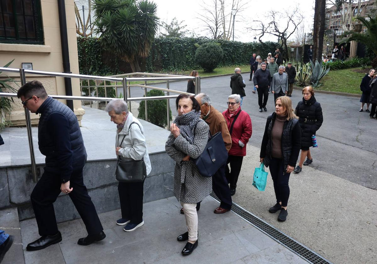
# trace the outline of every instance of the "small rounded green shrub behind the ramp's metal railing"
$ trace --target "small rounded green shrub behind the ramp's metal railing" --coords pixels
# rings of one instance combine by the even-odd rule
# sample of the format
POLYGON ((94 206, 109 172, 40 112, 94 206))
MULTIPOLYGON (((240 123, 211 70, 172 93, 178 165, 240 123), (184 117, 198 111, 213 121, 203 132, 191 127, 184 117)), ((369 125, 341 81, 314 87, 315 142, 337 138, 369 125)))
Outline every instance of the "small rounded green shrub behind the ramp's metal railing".
MULTIPOLYGON (((149 96, 164 96, 164 92, 156 89, 152 89, 147 92, 147 97, 149 96)), ((166 127, 167 116, 166 116, 166 99, 162 100, 152 100, 147 101, 148 107, 148 120, 145 118, 145 101, 141 101, 138 107, 138 118, 146 120, 152 124, 155 124, 159 127, 166 127)), ((169 118, 172 120, 172 111, 169 109, 169 118)))

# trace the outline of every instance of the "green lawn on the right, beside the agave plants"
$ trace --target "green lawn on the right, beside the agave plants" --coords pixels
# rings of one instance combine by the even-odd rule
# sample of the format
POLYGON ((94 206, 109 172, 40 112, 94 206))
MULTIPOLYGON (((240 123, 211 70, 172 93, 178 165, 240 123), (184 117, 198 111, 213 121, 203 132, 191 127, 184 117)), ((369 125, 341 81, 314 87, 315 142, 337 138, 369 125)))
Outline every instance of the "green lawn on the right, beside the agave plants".
POLYGON ((370 66, 365 71, 360 67, 329 71, 320 81, 322 85, 316 87, 316 90, 361 94, 360 83, 369 69, 370 66))

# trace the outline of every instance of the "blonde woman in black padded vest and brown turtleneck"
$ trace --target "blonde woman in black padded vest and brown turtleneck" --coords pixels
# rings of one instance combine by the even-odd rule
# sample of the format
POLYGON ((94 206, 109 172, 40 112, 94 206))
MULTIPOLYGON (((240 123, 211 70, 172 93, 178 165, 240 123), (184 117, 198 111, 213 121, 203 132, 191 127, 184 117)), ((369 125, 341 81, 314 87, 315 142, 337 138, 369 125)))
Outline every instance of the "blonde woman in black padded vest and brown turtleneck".
POLYGON ((275 112, 267 118, 259 157, 261 163, 270 167, 274 183, 276 204, 268 211, 280 211, 277 220, 285 221, 290 195, 288 181, 299 157, 301 131, 291 99, 282 96, 275 104, 275 112))

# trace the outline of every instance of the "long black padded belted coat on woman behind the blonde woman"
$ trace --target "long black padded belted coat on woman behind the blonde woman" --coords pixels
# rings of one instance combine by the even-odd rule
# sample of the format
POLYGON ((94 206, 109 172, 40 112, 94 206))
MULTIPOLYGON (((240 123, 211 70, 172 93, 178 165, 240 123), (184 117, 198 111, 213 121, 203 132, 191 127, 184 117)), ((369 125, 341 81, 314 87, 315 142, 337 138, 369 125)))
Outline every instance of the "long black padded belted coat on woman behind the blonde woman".
POLYGON ((311 147, 311 135, 316 134, 323 122, 322 107, 313 95, 309 100, 302 98, 295 112, 301 127, 301 146, 311 147))

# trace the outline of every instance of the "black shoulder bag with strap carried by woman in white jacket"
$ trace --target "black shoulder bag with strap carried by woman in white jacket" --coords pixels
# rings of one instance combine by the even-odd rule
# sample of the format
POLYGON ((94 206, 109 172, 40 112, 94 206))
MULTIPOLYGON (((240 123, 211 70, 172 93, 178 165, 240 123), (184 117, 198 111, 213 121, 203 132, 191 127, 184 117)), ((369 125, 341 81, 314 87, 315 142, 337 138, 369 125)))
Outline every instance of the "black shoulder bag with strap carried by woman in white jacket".
MULTIPOLYGON (((136 122, 132 122, 130 126, 128 127, 128 130, 130 130, 130 127, 132 124, 137 124, 136 122)), ((141 127, 139 126, 140 130, 141 127)), ((143 134, 143 131, 141 130, 141 133, 143 134)), ((126 135, 124 135, 124 138, 126 135)), ((120 143, 120 146, 122 146, 122 142, 120 143)), ((121 160, 118 156, 117 164, 116 164, 116 170, 115 170, 115 177, 117 181, 123 182, 123 183, 135 183, 144 181, 147 177, 147 168, 144 162, 144 157, 141 160, 130 160, 130 161, 124 161, 121 160)))

